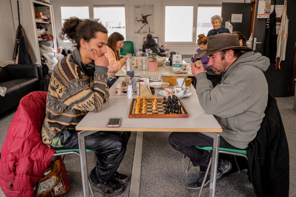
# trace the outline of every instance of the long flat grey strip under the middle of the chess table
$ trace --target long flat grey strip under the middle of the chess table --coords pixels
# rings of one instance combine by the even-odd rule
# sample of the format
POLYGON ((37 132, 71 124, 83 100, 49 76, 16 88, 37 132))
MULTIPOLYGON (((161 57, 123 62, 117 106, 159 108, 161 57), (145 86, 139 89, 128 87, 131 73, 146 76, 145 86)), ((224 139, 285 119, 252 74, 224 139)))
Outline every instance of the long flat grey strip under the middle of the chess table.
POLYGON ((137 131, 135 153, 133 156, 133 171, 131 174, 130 197, 140 196, 140 181, 142 167, 143 131, 137 131))

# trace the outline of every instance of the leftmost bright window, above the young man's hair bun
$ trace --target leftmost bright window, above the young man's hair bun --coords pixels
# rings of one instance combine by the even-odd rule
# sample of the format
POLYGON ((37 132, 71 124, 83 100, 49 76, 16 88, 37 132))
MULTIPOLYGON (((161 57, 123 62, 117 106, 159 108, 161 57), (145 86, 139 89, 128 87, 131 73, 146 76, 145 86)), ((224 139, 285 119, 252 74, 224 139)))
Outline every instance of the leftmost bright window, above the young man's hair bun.
MULTIPOLYGON (((78 17, 81 20, 89 19, 89 7, 61 7, 62 26, 66 19, 70 17, 78 17)), ((70 42, 64 40, 64 42, 70 42)))

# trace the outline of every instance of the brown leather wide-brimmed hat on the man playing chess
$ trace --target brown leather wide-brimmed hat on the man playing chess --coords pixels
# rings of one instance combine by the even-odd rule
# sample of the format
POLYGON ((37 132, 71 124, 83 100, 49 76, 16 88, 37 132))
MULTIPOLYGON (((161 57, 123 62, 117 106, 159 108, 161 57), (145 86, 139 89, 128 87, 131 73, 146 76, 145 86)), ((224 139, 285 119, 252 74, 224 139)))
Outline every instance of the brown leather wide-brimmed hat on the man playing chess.
POLYGON ((217 51, 228 49, 240 49, 242 51, 253 51, 252 48, 239 45, 239 37, 236 34, 221 33, 207 38, 207 48, 197 53, 196 58, 202 58, 217 51))

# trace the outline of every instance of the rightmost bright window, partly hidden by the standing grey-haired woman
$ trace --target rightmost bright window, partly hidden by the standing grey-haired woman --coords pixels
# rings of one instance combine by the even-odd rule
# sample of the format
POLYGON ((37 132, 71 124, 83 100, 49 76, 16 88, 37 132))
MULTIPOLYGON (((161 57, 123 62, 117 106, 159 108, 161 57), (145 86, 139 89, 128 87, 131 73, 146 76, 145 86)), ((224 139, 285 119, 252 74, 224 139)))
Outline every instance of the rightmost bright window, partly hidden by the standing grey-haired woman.
MULTIPOLYGON (((221 7, 198 7, 197 8, 197 35, 205 34, 207 36, 207 32, 213 29, 213 25, 211 23, 211 17, 214 15, 221 16, 221 7)), ((196 41, 197 43, 197 41, 196 41)))

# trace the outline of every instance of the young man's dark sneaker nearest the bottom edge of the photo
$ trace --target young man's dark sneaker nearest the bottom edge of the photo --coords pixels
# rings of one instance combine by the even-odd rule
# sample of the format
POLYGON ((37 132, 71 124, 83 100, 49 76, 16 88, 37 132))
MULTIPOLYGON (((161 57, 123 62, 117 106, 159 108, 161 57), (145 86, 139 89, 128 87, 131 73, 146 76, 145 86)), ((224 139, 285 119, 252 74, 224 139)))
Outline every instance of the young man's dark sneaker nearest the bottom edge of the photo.
POLYGON ((109 181, 108 183, 95 184, 91 182, 91 187, 94 191, 98 191, 106 196, 117 196, 123 192, 123 186, 109 181))

